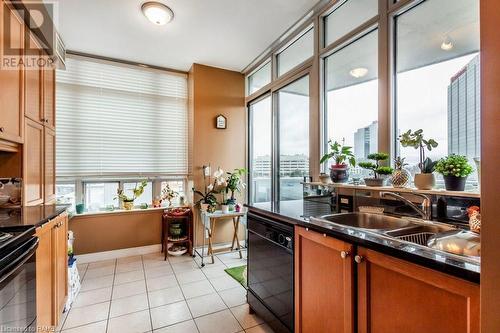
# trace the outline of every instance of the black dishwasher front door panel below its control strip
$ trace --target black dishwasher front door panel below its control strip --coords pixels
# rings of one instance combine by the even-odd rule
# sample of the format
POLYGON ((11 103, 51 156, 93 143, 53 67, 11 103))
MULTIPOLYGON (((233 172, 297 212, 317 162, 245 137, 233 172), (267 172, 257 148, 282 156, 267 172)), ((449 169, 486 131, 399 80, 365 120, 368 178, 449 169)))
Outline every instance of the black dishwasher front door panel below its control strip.
POLYGON ((248 229, 248 289, 293 331, 293 252, 248 229))

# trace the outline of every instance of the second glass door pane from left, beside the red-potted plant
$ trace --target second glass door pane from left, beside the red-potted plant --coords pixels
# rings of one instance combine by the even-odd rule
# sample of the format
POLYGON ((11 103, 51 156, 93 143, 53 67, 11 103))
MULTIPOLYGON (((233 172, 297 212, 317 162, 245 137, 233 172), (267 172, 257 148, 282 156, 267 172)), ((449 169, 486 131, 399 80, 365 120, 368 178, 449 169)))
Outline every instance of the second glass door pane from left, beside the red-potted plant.
POLYGON ((302 199, 304 176, 309 175, 309 75, 276 94, 278 115, 279 200, 302 199))

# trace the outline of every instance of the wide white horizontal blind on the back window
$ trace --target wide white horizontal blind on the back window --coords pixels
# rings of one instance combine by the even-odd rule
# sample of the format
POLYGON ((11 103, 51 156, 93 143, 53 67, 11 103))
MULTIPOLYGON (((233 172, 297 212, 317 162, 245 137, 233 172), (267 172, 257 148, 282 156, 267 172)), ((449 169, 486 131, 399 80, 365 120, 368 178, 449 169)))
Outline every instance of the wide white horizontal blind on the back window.
POLYGON ((57 72, 58 177, 187 175, 187 76, 88 58, 57 72))

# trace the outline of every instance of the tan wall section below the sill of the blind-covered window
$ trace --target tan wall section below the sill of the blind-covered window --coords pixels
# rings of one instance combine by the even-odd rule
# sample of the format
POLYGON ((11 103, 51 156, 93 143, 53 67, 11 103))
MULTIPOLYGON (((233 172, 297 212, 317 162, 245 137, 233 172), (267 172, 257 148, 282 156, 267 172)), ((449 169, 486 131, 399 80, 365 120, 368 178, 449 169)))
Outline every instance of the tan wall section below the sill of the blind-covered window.
POLYGON ((160 244, 163 210, 117 212, 73 217, 75 254, 160 244))

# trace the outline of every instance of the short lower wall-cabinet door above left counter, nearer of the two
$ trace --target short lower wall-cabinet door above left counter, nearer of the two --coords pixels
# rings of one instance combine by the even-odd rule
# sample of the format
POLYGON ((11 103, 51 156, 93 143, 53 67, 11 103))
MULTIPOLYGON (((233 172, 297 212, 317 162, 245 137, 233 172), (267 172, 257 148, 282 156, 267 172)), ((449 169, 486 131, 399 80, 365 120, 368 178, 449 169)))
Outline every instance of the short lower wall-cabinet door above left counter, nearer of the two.
POLYGON ((26 118, 24 143, 24 203, 43 203, 43 125, 26 118))

